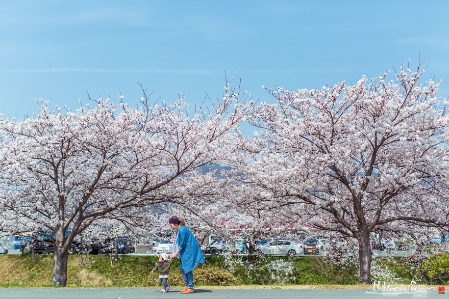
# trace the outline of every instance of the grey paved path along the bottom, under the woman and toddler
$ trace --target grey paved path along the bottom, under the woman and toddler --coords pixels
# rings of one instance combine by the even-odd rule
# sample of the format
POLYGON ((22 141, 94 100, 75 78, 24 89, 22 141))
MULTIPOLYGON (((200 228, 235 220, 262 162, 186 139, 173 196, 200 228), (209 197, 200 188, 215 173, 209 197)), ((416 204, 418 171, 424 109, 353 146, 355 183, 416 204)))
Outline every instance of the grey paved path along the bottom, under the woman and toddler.
MULTIPOLYGON (((384 292, 387 292, 386 290, 384 292)), ((181 294, 175 289, 159 293, 159 289, 0 289, 0 298, 8 299, 153 299, 153 298, 210 298, 210 299, 361 299, 361 298, 449 298, 430 290, 393 290, 389 294, 371 290, 215 290, 197 289, 193 294, 181 294)))

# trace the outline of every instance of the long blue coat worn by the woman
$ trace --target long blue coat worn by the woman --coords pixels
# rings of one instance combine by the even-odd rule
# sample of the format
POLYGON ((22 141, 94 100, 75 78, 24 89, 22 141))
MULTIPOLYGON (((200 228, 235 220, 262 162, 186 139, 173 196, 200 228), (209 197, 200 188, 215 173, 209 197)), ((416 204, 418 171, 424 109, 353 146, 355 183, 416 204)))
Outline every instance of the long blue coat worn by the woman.
POLYGON ((178 247, 181 250, 181 263, 184 267, 184 271, 190 272, 196 267, 197 264, 204 264, 204 256, 201 248, 199 248, 198 242, 185 226, 181 226, 178 230, 178 247))

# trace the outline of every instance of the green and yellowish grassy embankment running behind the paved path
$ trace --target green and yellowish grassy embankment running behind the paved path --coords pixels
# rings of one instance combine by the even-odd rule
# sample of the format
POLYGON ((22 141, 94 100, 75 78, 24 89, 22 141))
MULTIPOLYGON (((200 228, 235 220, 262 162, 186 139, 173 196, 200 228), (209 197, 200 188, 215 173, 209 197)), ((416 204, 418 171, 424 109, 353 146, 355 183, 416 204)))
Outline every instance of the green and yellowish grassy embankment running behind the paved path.
MULTIPOLYGON (((122 256, 111 265, 108 256, 70 255, 67 287, 158 287, 157 273, 149 275, 156 262, 157 257, 122 256)), ((342 269, 326 264, 318 257, 269 257, 252 266, 248 266, 244 257, 243 260, 235 258, 231 263, 228 260, 226 266, 224 263, 222 257, 208 257, 207 264, 194 271, 195 285, 228 286, 227 288, 251 288, 248 285, 265 285, 267 288, 278 288, 279 285, 283 285, 282 288, 354 288, 351 285, 357 284, 358 269, 342 269)), ((36 262, 32 261, 29 254, 2 255, 0 287, 50 287, 52 266, 53 255, 38 255, 36 262)), ((395 271, 404 277, 401 282, 410 282, 409 275, 401 264, 396 265, 395 271)), ((175 261, 171 268, 169 283, 183 285, 179 261, 175 261)))

